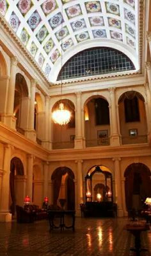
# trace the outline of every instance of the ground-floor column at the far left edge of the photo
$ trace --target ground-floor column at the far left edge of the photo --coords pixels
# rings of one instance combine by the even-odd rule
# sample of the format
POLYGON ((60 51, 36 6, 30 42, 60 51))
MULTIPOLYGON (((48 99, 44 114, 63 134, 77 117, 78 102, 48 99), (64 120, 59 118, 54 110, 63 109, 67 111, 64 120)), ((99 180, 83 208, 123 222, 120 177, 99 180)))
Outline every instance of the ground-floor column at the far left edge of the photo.
POLYGON ((11 153, 10 145, 4 145, 3 177, 0 199, 0 221, 3 222, 12 221, 12 214, 9 213, 11 153))

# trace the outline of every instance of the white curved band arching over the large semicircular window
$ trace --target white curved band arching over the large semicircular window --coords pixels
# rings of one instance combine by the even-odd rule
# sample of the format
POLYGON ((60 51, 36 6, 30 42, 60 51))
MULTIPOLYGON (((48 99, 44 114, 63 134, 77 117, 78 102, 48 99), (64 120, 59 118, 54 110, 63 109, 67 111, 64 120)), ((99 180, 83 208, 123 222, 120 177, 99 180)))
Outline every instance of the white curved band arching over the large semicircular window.
POLYGON ((70 48, 70 51, 66 51, 63 54, 63 63, 61 64, 60 58, 56 61, 54 64, 54 68, 51 69, 51 73, 49 77, 51 78, 51 82, 56 82, 58 74, 60 73, 61 67, 73 56, 79 53, 79 51, 88 50, 89 48, 95 48, 95 47, 109 47, 113 48, 115 50, 121 51, 123 54, 127 55, 127 57, 133 62, 136 71, 139 69, 138 64, 138 55, 137 53, 132 50, 129 46, 123 44, 122 42, 114 42, 109 39, 104 39, 100 41, 99 39, 90 40, 81 42, 80 44, 77 44, 76 46, 70 48))

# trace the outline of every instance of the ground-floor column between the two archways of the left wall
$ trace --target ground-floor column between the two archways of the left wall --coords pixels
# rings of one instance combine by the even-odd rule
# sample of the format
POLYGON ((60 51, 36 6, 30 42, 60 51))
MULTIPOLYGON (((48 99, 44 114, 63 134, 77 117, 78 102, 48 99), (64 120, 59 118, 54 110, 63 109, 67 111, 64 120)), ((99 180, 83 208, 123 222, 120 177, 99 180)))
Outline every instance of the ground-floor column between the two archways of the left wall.
POLYGON ((26 183, 26 196, 33 198, 33 155, 27 156, 27 183, 26 183))

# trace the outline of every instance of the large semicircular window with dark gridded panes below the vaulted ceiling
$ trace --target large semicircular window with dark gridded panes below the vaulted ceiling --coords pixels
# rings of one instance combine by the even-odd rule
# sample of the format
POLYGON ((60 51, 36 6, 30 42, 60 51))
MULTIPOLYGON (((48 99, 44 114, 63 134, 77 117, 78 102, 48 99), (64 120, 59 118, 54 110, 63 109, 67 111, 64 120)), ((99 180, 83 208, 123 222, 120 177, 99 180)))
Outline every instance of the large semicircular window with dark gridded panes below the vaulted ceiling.
POLYGON ((121 51, 99 47, 81 51, 71 57, 61 69, 57 80, 88 77, 133 70, 134 64, 121 51))

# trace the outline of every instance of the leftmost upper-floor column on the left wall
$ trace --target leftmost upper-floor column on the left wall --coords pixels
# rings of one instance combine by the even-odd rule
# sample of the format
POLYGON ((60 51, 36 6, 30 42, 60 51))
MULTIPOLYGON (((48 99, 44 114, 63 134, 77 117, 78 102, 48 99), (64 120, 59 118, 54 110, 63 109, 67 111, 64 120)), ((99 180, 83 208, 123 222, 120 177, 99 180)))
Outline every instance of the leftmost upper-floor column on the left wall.
POLYGON ((16 79, 16 70, 17 70, 18 60, 16 57, 11 59, 10 67, 10 82, 8 86, 8 99, 7 99, 7 113, 5 118, 6 125, 9 125, 12 129, 15 129, 16 118, 13 116, 13 105, 15 98, 15 79, 16 79))

